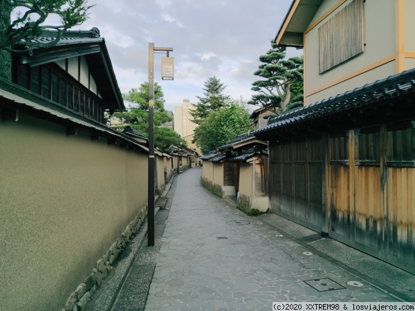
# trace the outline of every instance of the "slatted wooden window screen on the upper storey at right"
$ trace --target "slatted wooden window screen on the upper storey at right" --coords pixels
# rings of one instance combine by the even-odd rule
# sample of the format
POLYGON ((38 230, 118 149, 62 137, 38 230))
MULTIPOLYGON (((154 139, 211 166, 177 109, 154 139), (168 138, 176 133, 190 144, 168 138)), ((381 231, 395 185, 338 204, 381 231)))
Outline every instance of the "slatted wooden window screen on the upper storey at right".
POLYGON ((363 0, 353 0, 318 28, 320 73, 363 52, 363 0))

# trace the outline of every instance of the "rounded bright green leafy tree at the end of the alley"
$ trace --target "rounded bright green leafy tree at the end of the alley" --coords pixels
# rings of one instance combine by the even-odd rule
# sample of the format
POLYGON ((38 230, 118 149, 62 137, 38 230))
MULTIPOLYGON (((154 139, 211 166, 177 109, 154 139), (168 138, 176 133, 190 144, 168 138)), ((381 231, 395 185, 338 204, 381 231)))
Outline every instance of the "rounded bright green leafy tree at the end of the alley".
POLYGON ((230 103, 230 106, 211 111, 206 119, 194 131, 194 141, 202 153, 208 153, 238 134, 250 129, 250 113, 244 104, 230 103))

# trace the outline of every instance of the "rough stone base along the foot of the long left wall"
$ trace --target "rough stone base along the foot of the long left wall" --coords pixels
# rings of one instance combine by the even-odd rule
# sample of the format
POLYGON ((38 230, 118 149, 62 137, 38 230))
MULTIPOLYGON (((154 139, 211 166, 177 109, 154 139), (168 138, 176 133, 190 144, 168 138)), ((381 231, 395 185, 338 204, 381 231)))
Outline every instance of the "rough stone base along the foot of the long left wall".
POLYGON ((63 308, 62 311, 84 310, 89 298, 112 270, 113 262, 121 254, 129 241, 131 241, 131 239, 138 234, 146 217, 147 208, 144 207, 125 228, 120 238, 118 238, 117 241, 109 247, 108 251, 102 256, 102 258, 97 261, 95 268, 91 271, 91 274, 86 276, 84 282, 81 283, 75 292, 68 297, 65 308, 63 308))

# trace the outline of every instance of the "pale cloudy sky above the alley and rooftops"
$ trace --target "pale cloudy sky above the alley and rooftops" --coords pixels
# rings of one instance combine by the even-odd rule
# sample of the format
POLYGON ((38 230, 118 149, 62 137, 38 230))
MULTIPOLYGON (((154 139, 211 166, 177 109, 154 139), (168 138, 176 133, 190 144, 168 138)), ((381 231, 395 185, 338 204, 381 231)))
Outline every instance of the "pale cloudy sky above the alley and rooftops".
MULTIPOLYGON (((232 99, 250 100, 253 75, 279 30, 291 0, 89 0, 90 18, 75 29, 100 29, 122 93, 148 80, 149 42, 172 47, 174 81, 162 81, 154 55, 154 81, 174 110, 197 103, 203 83, 217 77, 232 99)), ((302 50, 289 49, 289 56, 302 50)), ((254 109, 255 107, 251 106, 254 109)), ((249 107, 248 107, 249 108, 249 107)))

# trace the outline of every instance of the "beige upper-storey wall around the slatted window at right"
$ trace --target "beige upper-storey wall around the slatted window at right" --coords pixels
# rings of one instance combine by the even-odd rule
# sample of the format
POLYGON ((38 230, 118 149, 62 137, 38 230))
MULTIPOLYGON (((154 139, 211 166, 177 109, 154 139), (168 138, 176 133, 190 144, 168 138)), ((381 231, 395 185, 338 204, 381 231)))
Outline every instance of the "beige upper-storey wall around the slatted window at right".
MULTIPOLYGON (((345 1, 326 19, 335 15, 350 1, 345 1)), ((366 1, 364 4, 364 52, 321 75, 319 74, 318 28, 326 21, 326 19, 320 21, 320 18, 331 8, 334 8, 337 3, 339 3, 338 0, 323 1, 315 18, 310 23, 310 30, 306 32, 304 95, 307 105, 396 73, 394 64, 390 66, 396 50, 395 1, 377 0, 366 1), (320 23, 316 23, 318 21, 320 23), (361 74, 365 71, 367 73, 362 77, 361 74)))

